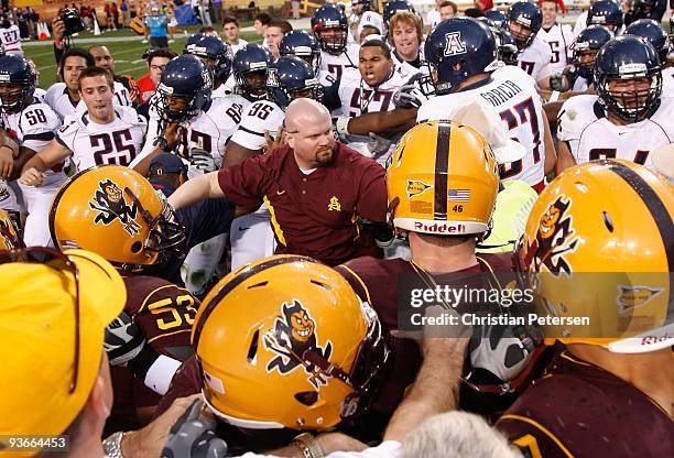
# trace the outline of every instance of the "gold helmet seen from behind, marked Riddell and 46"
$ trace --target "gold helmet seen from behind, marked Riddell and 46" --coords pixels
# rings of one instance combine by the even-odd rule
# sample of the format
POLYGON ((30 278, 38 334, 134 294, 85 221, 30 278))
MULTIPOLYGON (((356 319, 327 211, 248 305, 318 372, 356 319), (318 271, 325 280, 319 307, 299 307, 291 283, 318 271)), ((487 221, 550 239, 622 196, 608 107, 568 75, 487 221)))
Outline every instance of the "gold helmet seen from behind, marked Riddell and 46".
POLYGON ((472 128, 428 121, 398 143, 387 173, 389 218, 399 229, 437 236, 487 232, 498 165, 472 128))

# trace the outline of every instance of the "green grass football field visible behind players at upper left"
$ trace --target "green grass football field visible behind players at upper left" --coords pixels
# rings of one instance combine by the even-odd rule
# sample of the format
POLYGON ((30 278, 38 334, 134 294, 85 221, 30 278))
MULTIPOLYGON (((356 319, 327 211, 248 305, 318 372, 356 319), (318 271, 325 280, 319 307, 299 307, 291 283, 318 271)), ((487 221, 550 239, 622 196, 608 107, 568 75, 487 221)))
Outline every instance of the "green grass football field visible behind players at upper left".
MULTIPOLYGON (((175 43, 171 44, 171 48, 181 53, 187 36, 195 33, 198 29, 199 26, 196 25, 181 28, 180 32, 175 33, 175 43)), ((80 33, 79 36, 74 39, 74 46, 87 48, 94 44, 105 44, 115 57, 115 72, 120 75, 131 75, 134 78, 139 78, 148 73, 148 65, 141 56, 148 51, 149 44, 142 43, 142 37, 139 37, 137 41, 109 40, 122 36, 138 35, 130 30, 107 32, 99 36, 94 36, 90 33, 80 33), (100 41, 89 43, 89 39, 99 39, 100 41)), ((241 39, 252 43, 260 43, 262 41, 254 32, 242 32, 241 39)), ((25 57, 33 59, 40 70, 40 87, 46 89, 56 81, 56 61, 54 59, 53 42, 51 40, 37 43, 28 42, 23 46, 23 53, 25 57)))

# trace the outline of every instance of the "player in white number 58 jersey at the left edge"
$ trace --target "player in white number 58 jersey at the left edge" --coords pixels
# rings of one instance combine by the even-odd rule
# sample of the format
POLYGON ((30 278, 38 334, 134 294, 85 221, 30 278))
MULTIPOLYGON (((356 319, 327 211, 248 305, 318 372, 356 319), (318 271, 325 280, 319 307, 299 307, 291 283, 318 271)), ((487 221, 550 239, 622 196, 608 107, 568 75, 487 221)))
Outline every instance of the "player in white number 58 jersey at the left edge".
MULTIPOLYGON (((54 139, 54 132, 61 121, 48 105, 34 97, 36 75, 28 59, 15 55, 0 57, 0 111, 2 124, 10 137, 15 138, 20 150, 13 162, 11 174, 2 178, 18 177, 25 161, 44 150, 54 139)), ((0 150, 8 154, 10 148, 0 150)), ((21 194, 26 206, 23 239, 28 247, 47 247, 51 244, 47 214, 54 193, 65 182, 63 162, 45 171, 44 184, 41 187, 21 186, 21 194)))

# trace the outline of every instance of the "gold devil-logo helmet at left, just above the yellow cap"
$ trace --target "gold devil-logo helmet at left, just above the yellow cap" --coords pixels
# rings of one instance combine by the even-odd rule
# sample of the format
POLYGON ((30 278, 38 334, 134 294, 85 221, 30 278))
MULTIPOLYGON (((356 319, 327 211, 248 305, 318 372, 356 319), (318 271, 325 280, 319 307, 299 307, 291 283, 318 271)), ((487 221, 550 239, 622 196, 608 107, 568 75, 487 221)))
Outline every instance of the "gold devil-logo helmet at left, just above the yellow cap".
POLYGON ((185 241, 164 195, 120 165, 70 177, 54 196, 50 230, 61 250, 89 250, 123 270, 155 264, 185 241))

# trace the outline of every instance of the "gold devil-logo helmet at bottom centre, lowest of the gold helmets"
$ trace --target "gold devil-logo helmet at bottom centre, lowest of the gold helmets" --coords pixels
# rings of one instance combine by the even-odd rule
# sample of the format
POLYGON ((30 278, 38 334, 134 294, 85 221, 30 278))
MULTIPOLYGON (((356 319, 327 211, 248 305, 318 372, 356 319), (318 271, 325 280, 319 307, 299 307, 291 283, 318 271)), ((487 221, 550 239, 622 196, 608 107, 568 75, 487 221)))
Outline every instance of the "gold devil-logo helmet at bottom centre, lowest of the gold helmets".
POLYGON ((192 330, 213 412, 244 428, 324 429, 365 408, 389 350, 377 314, 330 268, 276 255, 206 296, 192 330))

